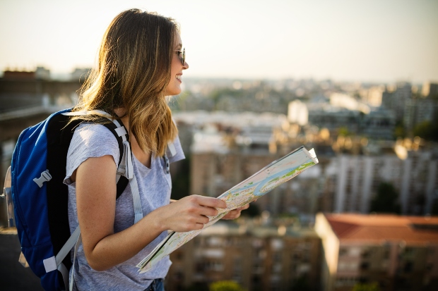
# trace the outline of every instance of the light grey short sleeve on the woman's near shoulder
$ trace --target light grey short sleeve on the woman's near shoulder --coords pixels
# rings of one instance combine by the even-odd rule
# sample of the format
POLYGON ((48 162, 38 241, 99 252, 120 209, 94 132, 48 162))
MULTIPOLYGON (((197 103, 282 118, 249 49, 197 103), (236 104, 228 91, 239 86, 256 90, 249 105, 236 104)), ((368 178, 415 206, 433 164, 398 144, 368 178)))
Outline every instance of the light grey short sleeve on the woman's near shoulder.
POLYGON ((70 176, 88 158, 112 156, 117 166, 120 157, 116 137, 104 125, 82 123, 76 128, 67 152, 66 178, 64 184, 71 184, 70 176))

